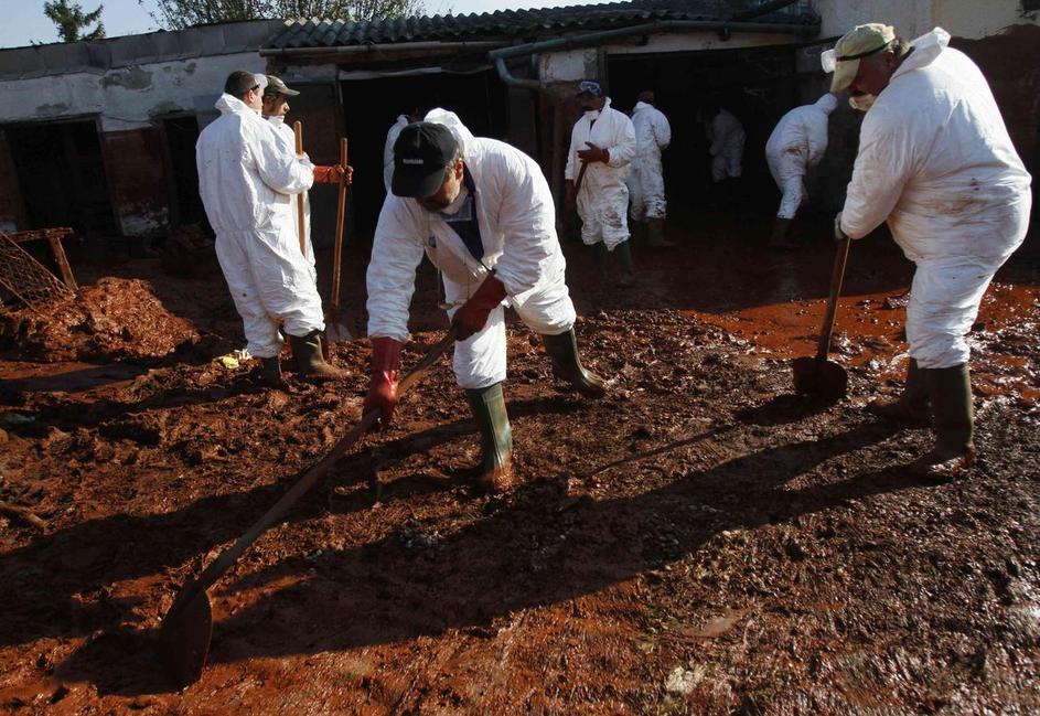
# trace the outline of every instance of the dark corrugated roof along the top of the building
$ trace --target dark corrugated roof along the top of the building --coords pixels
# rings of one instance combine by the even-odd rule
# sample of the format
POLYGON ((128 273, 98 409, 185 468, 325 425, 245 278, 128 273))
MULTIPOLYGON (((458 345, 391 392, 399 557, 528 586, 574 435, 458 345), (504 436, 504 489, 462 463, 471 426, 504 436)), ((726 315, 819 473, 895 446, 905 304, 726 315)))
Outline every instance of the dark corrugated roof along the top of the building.
MULTIPOLYGON (((529 38, 576 30, 594 31, 655 20, 726 20, 714 0, 632 0, 608 4, 532 10, 497 10, 464 15, 433 15, 344 22, 290 20, 269 49, 336 47, 416 41, 529 38)), ((772 12, 757 23, 818 25, 814 14, 772 12)))

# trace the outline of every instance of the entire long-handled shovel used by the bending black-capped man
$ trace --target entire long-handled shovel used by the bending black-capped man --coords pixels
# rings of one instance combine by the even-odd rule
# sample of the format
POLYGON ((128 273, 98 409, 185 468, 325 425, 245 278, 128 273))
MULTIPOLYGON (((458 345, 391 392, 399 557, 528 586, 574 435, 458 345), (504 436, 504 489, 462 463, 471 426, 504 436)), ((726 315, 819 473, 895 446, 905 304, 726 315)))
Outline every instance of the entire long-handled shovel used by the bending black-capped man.
MULTIPOLYGON (((401 378, 397 386, 398 397, 403 397, 411 386, 419 382, 431 365, 448 350, 455 340, 455 331, 451 329, 430 349, 411 372, 401 378)), ((210 606, 210 595, 206 590, 219 579, 257 538, 271 527, 286 511, 296 504, 304 492, 310 490, 319 478, 323 477, 336 460, 343 457, 347 448, 353 446, 383 414, 382 409, 371 410, 362 417, 354 428, 336 442, 329 453, 312 464, 300 480, 282 498, 274 504, 249 531, 238 538, 234 545, 225 549, 197 579, 189 580, 173 599, 173 605, 162 620, 159 632, 159 655, 175 680, 179 687, 187 686, 199 681, 202 670, 206 665, 210 653, 210 639, 213 635, 213 611, 210 606)))

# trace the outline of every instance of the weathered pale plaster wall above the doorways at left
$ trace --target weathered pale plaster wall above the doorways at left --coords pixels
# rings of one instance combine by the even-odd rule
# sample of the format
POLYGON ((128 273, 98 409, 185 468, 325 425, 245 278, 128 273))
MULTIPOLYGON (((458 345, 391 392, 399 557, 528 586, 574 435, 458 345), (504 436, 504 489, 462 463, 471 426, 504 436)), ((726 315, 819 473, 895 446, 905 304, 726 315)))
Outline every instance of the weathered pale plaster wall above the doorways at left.
POLYGON ((235 70, 264 72, 256 52, 0 81, 0 122, 100 115, 101 131, 138 129, 156 115, 196 110, 196 98, 221 94, 235 70))

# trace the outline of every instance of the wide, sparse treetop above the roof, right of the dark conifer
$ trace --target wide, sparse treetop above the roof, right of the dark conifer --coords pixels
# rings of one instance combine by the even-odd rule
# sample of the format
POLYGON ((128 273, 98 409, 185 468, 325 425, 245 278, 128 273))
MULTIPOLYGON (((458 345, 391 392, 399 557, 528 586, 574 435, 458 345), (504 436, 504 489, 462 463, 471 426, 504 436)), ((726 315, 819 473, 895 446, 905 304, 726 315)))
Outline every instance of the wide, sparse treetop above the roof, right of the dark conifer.
POLYGON ((156 0, 156 4, 152 18, 168 30, 237 20, 404 18, 425 10, 423 0, 156 0))

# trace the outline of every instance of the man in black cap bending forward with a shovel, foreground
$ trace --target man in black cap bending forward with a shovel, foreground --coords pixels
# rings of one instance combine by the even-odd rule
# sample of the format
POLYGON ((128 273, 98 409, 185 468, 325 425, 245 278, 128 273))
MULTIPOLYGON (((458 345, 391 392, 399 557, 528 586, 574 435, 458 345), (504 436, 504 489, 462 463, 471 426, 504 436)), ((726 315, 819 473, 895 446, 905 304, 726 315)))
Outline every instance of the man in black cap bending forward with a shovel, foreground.
POLYGON ((513 440, 502 393, 504 306, 542 335, 558 377, 582 395, 604 393, 603 381, 578 356, 549 185, 518 149, 475 138, 454 113, 433 109, 398 136, 390 189, 368 265, 372 381, 365 412, 382 408, 382 426, 393 418, 408 306, 425 253, 443 279, 458 341, 455 378, 481 435, 479 482, 505 490, 513 440))

